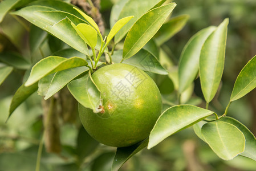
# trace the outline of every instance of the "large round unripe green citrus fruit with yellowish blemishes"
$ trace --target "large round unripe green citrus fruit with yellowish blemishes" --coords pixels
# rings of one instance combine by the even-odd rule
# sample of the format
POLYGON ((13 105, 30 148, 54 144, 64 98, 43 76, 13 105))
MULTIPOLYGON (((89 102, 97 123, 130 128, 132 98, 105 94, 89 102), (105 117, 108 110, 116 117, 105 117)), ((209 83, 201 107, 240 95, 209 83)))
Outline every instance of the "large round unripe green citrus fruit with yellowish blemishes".
POLYGON ((162 101, 155 82, 128 64, 111 64, 92 74, 101 92, 102 111, 79 104, 79 116, 95 140, 109 146, 130 146, 149 136, 161 114, 162 101))

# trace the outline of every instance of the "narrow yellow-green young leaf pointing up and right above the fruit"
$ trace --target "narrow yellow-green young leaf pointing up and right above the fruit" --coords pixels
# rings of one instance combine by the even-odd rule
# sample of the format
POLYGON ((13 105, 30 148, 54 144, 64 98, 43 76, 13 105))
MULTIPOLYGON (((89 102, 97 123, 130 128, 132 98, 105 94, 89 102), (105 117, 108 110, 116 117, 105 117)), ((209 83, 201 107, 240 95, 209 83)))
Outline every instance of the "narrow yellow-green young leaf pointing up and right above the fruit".
POLYGON ((115 23, 115 25, 113 26, 113 28, 110 30, 108 36, 107 36, 107 41, 106 44, 108 44, 110 42, 110 40, 113 38, 113 36, 115 36, 117 34, 117 32, 124 27, 124 25, 126 25, 126 23, 128 23, 134 16, 129 16, 129 17, 125 17, 122 19, 119 19, 119 21, 117 21, 115 23))

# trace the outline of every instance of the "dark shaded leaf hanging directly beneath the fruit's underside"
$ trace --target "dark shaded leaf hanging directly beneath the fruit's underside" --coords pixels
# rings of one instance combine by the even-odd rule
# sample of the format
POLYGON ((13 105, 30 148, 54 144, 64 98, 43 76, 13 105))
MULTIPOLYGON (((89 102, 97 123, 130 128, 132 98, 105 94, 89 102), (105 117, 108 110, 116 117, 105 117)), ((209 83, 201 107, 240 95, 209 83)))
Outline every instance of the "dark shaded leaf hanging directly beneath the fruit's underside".
POLYGON ((129 160, 132 156, 138 153, 140 150, 144 149, 148 145, 148 138, 144 141, 128 146, 116 149, 116 155, 112 164, 112 171, 117 171, 123 166, 123 164, 129 160))

